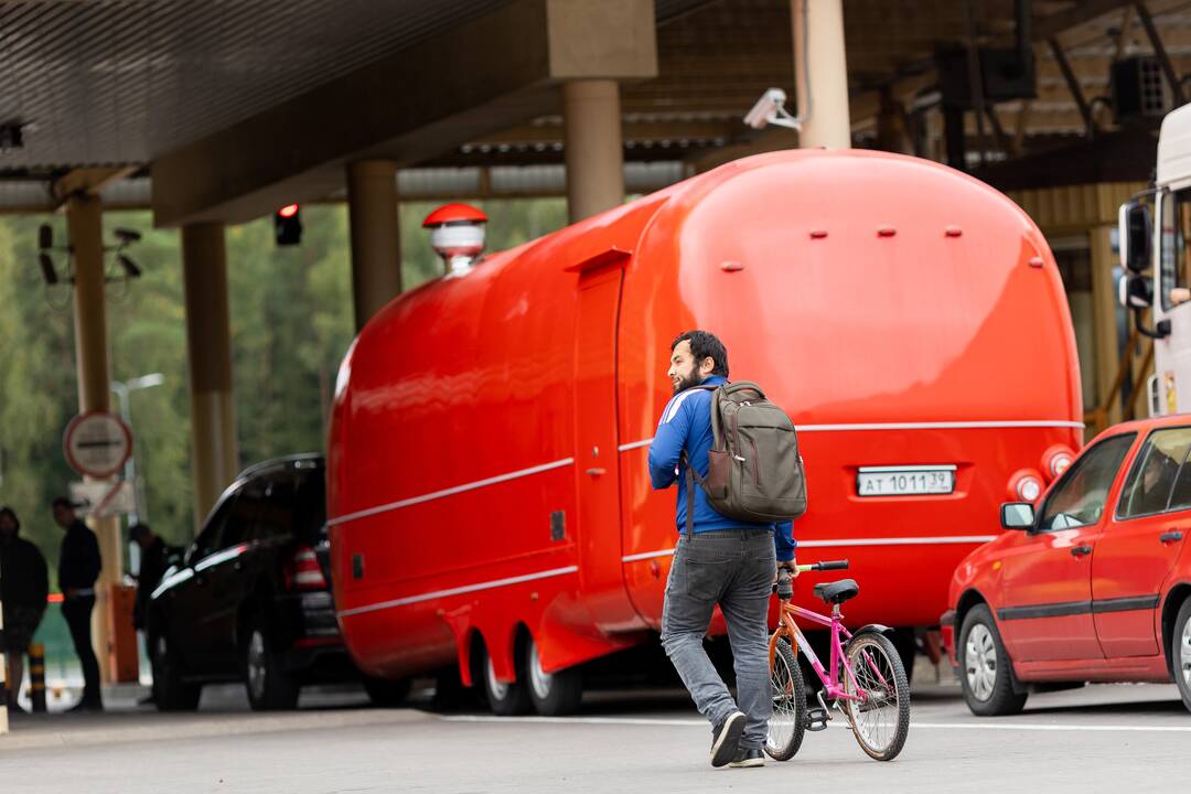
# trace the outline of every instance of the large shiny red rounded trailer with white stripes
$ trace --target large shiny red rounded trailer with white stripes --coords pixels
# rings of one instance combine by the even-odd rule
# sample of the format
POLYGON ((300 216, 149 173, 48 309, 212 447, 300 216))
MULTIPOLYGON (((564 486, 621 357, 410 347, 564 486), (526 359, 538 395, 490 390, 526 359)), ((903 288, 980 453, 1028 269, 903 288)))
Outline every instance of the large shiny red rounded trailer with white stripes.
POLYGON ((401 295, 360 333, 328 507, 361 668, 457 661, 499 709, 549 713, 575 702, 575 665, 657 630, 675 496, 646 456, 692 327, 798 426, 799 558, 852 559, 850 623, 937 624, 997 505, 1080 446, 1062 285, 1008 198, 887 154, 737 161, 401 295))

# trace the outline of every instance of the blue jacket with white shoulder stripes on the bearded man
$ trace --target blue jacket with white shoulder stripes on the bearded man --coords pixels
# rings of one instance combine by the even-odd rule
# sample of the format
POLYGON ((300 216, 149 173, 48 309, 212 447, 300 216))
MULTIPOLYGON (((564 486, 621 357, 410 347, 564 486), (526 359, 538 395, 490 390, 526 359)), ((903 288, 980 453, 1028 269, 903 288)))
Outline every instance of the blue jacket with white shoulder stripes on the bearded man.
MULTIPOLYGON (((728 381, 712 375, 703 381, 705 386, 723 386, 728 381)), ((678 531, 686 529, 686 473, 679 470, 679 458, 682 450, 694 465, 699 476, 707 476, 707 452, 711 450, 711 392, 707 389, 686 389, 679 392, 666 405, 662 418, 657 423, 657 433, 649 444, 649 479, 656 489, 669 488, 678 480, 678 509, 675 523, 678 531)), ((741 526, 768 527, 773 530, 773 543, 778 552, 778 562, 790 562, 794 558, 793 521, 771 524, 750 524, 727 518, 716 512, 707 502, 707 494, 698 483, 694 484, 694 532, 712 530, 731 530, 741 526)))

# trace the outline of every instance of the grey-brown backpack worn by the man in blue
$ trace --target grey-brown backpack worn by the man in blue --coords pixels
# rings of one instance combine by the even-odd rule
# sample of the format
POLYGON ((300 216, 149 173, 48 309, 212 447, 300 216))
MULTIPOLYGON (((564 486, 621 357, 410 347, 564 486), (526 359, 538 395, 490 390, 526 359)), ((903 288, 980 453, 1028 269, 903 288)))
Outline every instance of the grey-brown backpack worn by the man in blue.
POLYGON ((711 392, 710 467, 686 463, 686 531, 694 530, 694 481, 721 515, 741 521, 794 519, 806 512, 806 475, 794 423, 756 383, 697 386, 711 392))

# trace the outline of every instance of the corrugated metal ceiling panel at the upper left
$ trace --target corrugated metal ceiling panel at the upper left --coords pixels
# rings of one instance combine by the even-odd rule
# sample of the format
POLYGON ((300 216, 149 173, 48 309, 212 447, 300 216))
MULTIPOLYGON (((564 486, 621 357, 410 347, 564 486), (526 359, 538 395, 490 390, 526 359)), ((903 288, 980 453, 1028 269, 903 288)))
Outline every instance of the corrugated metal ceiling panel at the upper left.
POLYGON ((506 2, 0 1, 0 171, 148 162, 506 2))

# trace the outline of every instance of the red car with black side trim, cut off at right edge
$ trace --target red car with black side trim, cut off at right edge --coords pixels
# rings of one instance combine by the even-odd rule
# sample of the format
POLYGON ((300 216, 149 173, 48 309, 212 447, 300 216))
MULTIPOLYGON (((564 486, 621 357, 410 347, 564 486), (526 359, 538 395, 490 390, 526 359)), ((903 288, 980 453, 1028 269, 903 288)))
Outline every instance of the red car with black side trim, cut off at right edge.
POLYGON ((943 642, 973 713, 1087 681, 1178 684, 1191 708, 1191 414, 1100 433, 952 577, 943 642))

